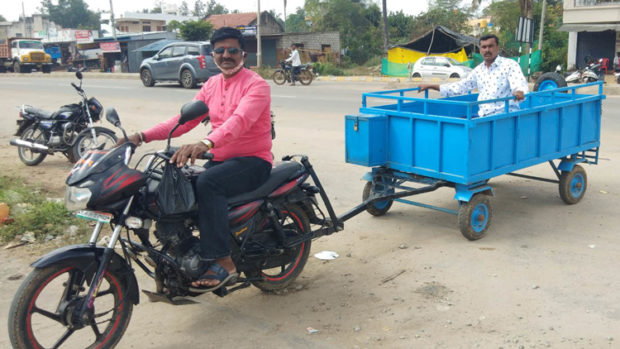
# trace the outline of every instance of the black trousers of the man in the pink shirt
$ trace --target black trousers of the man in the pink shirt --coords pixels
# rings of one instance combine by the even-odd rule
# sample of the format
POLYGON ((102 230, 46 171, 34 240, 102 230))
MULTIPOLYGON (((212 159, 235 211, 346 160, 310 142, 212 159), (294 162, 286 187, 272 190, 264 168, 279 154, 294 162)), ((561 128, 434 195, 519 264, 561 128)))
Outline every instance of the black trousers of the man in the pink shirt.
POLYGON ((205 259, 230 255, 228 198, 246 193, 265 183, 271 164, 248 156, 226 161, 209 161, 207 169, 196 179, 200 252, 205 259))

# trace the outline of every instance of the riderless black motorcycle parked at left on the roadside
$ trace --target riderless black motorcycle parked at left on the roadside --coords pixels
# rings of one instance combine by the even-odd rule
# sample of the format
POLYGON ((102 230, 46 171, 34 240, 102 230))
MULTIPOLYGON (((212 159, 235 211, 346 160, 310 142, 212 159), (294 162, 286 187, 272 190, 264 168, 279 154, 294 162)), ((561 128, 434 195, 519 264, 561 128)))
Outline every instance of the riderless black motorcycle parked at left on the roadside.
POLYGON ((112 146, 117 138, 112 130, 95 126, 103 106, 95 98, 88 98, 82 89, 82 72, 75 76, 80 85, 71 83, 81 97, 79 103, 68 104, 57 111, 48 112, 29 105, 22 105, 17 120, 17 139, 10 144, 17 146, 17 154, 27 166, 40 164, 47 155, 64 154, 74 163, 89 149, 112 146))

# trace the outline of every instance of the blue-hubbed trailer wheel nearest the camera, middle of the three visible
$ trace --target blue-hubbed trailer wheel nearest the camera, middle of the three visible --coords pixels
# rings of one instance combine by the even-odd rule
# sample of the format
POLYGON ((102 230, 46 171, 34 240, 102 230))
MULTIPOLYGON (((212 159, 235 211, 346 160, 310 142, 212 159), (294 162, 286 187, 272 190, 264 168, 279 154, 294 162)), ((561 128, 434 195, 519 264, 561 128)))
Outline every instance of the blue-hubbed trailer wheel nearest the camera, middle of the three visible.
POLYGON ((469 202, 461 202, 459 207, 461 234, 471 241, 483 238, 492 217, 493 211, 488 195, 476 194, 469 202))

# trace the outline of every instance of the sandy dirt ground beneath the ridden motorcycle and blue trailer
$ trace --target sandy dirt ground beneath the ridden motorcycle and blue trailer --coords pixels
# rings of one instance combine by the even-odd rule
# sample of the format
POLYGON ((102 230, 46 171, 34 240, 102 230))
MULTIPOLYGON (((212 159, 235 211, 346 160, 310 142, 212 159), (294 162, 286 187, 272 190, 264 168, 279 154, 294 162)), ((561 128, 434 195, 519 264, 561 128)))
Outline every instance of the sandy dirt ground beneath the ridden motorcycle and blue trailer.
MULTIPOLYGON (((363 213, 343 232, 313 242, 313 254, 335 251, 337 259, 311 257, 280 294, 250 287, 176 307, 142 295, 119 348, 618 347, 620 123, 610 110, 620 101, 612 102, 604 110, 601 162, 586 168, 588 192, 577 205, 563 204, 557 185, 493 179, 492 227, 476 242, 464 239, 456 217, 445 213, 402 204, 383 217, 363 213)), ((364 184, 358 179, 367 169, 333 155, 344 149, 342 116, 278 115, 276 157, 309 153, 336 212, 357 205, 364 184)), ((66 159, 26 167, 13 147, 0 146, 0 161, 0 174, 62 196, 66 159)), ((542 165, 523 173, 550 177, 550 171, 542 165)), ((455 209, 453 195, 441 189, 416 200, 455 209)), ((50 248, 0 248, 0 328, 28 264, 50 248)), ((154 289, 143 272, 136 274, 140 288, 154 289)), ((0 336, 0 347, 9 346, 0 336)))

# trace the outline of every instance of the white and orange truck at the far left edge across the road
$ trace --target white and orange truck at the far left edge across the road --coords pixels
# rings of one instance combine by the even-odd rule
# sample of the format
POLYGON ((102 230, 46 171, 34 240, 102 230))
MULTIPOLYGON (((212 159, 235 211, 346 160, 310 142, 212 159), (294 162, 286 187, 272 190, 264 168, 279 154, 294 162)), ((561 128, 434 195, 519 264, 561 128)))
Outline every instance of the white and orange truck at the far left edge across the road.
POLYGON ((34 68, 52 72, 52 56, 45 53, 40 39, 8 38, 0 44, 0 72, 30 73, 34 68))

